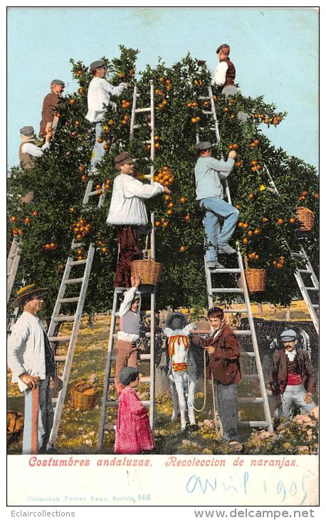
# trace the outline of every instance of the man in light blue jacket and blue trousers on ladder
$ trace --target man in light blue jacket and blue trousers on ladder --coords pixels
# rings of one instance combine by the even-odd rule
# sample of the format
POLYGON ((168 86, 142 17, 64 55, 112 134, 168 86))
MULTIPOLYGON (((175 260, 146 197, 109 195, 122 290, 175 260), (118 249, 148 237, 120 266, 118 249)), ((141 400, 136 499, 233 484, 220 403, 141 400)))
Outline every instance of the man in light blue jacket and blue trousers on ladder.
POLYGON ((206 214, 204 226, 206 233, 206 263, 209 269, 224 269, 218 261, 218 250, 221 253, 234 254, 228 241, 236 229, 238 209, 228 204, 224 197, 221 180, 230 175, 234 165, 236 152, 228 154, 228 160, 217 160, 211 157, 211 143, 208 141, 197 142, 199 158, 195 166, 196 199, 204 207, 206 214), (220 220, 224 219, 223 227, 220 220))

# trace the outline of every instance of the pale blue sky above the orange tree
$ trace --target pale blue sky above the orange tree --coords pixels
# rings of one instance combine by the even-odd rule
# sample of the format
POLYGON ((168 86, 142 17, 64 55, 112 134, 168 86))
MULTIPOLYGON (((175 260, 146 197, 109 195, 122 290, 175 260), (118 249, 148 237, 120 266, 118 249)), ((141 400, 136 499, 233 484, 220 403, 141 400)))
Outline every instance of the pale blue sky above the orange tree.
POLYGON ((216 47, 227 42, 244 95, 264 95, 288 117, 264 130, 318 167, 318 14, 312 8, 9 8, 8 158, 18 164, 19 128, 38 130, 53 78, 73 92, 69 58, 86 65, 138 48, 137 70, 157 58, 170 65, 186 53, 216 67, 216 47))

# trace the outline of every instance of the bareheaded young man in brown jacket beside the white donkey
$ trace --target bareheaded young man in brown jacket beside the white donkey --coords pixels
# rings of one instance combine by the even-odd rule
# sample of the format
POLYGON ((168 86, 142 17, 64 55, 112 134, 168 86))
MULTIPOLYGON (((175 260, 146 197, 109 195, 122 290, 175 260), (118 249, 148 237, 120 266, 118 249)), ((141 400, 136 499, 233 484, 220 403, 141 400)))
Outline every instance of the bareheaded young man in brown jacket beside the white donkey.
POLYGON ((239 346, 236 335, 224 321, 223 309, 213 307, 208 312, 213 329, 210 338, 192 336, 194 345, 209 353, 209 369, 214 382, 216 410, 221 418, 224 440, 238 440, 238 401, 236 385, 241 381, 239 346))

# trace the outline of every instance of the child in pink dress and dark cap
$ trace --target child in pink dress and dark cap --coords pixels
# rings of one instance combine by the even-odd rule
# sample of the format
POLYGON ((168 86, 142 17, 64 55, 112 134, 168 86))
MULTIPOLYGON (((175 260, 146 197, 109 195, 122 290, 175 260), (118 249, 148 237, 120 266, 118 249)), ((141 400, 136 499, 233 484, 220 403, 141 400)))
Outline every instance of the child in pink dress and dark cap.
POLYGON ((154 442, 147 409, 135 392, 140 383, 140 371, 133 367, 122 368, 119 379, 124 388, 120 394, 117 411, 115 453, 136 454, 152 451, 154 442))

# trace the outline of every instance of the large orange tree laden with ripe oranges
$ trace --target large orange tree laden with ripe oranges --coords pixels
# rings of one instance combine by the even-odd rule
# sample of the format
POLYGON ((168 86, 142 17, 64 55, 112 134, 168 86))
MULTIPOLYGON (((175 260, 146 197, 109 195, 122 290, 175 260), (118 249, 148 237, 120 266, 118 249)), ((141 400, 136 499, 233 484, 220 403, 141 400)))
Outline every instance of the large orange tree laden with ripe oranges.
MULTIPOLYGON (((138 128, 130 142, 132 93, 135 82, 137 51, 120 47, 120 57, 107 61, 110 82, 120 81, 129 87, 119 98, 113 98, 116 110, 108 107, 102 124, 102 142, 107 153, 95 177, 98 192, 105 189, 104 206, 97 207, 98 196, 83 206, 88 182, 88 167, 93 147, 93 128, 85 120, 88 69, 80 61, 71 60, 73 78, 79 87, 66 95, 58 107, 59 126, 51 149, 33 170, 13 169, 9 183, 9 233, 21 235, 21 270, 27 281, 48 286, 46 316, 50 316, 65 259, 75 236, 82 246, 72 252, 76 259, 85 257, 90 241, 96 246, 93 269, 88 286, 85 310, 88 313, 110 307, 117 258, 115 230, 105 219, 110 204, 112 181, 117 175, 113 159, 117 153, 130 150, 136 158, 137 175, 148 172, 150 165, 149 121, 147 113, 137 115, 138 128), (19 194, 34 189, 33 204, 21 204, 19 194), (28 219, 26 220, 26 217, 28 219), (25 219, 25 220, 24 220, 25 219), (19 232, 17 231, 19 229, 19 232), (53 245, 54 244, 54 245, 53 245)), ((164 264, 158 289, 158 305, 206 305, 204 278, 204 229, 202 210, 196 202, 194 165, 196 135, 200 140, 216 143, 209 111, 208 85, 211 80, 204 61, 186 56, 172 67, 159 61, 147 68, 137 80, 137 106, 149 106, 149 82, 154 84, 155 159, 154 180, 168 185, 172 194, 156 197, 148 204, 154 209, 157 260, 164 264)), ((290 250, 298 249, 299 224, 295 208, 307 206, 318 211, 318 181, 315 168, 282 149, 275 149, 264 135, 268 125, 281 124, 285 113, 263 98, 224 96, 213 87, 221 140, 214 145, 213 155, 226 159, 236 150, 236 163, 229 177, 233 204, 240 210, 233 238, 241 246, 251 267, 267 270, 264 293, 256 293, 256 301, 283 305, 298 296, 293 272, 295 264, 290 250), (246 120, 238 118, 238 113, 246 120), (273 192, 270 175, 278 188, 273 192)), ((315 228, 305 236, 303 245, 317 269, 317 218, 315 228)), ((301 236, 303 234, 301 233, 301 236)), ((144 241, 143 241, 144 245, 144 241)), ((234 259, 226 262, 234 265, 234 259)), ((78 268, 73 276, 78 276, 78 268)), ((234 281, 219 275, 219 286, 234 281)))

